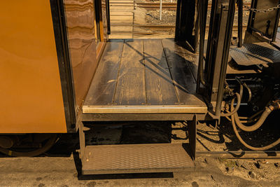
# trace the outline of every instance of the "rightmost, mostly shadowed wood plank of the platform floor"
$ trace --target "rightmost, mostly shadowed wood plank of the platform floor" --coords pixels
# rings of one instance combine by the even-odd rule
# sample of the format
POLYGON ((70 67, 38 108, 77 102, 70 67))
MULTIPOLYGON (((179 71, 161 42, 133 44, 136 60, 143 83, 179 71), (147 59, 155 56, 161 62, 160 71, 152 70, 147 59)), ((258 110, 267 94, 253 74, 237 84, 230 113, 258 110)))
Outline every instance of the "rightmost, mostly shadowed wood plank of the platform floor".
POLYGON ((188 60, 181 53, 178 53, 178 47, 176 47, 174 41, 163 39, 162 45, 179 96, 179 102, 190 106, 205 106, 202 99, 195 95, 196 83, 190 71, 188 60))

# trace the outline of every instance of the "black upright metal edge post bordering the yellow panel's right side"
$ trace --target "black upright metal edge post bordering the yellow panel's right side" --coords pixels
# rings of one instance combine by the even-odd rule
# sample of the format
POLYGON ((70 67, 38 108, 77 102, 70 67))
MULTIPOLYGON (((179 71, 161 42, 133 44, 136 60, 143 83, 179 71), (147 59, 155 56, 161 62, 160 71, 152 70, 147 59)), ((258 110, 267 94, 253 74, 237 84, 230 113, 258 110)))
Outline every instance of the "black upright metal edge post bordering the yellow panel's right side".
POLYGON ((69 60, 66 22, 62 0, 50 0, 50 8, 52 11, 52 22, 55 32, 55 44, 57 48, 57 60, 62 85, 67 132, 76 132, 75 95, 73 92, 71 62, 69 60))

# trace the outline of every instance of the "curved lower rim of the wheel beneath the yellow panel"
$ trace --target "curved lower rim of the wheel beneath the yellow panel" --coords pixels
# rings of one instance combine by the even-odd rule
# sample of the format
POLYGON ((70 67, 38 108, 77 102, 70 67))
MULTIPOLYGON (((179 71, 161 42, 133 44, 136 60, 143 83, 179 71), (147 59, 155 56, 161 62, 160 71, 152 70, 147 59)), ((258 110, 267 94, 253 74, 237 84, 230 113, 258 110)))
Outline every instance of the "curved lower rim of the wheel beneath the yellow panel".
POLYGON ((52 137, 50 137, 50 139, 48 139, 48 141, 45 143, 43 147, 38 148, 35 151, 18 152, 18 151, 11 151, 9 149, 0 147, 0 152, 15 157, 32 157, 45 153, 45 151, 48 151, 55 144, 56 141, 57 141, 57 135, 55 134, 52 137))

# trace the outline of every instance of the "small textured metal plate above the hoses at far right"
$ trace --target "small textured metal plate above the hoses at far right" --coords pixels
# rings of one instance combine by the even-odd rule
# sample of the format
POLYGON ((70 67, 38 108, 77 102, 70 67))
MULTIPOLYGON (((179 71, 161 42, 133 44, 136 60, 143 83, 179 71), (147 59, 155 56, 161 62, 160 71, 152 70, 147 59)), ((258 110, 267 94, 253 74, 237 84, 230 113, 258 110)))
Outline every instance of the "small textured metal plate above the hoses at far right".
POLYGON ((269 43, 244 43, 241 48, 230 48, 233 60, 242 66, 280 62, 280 51, 269 43))

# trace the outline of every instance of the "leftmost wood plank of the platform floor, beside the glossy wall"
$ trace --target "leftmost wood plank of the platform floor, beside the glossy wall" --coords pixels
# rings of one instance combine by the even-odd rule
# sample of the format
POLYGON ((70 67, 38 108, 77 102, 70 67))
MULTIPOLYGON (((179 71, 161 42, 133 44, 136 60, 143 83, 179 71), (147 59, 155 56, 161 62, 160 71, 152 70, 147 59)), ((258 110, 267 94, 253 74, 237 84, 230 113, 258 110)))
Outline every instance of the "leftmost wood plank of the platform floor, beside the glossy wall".
POLYGON ((85 99, 85 106, 113 104, 123 44, 123 40, 107 43, 85 99))

